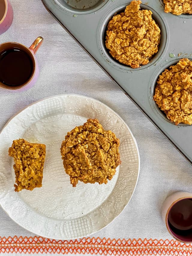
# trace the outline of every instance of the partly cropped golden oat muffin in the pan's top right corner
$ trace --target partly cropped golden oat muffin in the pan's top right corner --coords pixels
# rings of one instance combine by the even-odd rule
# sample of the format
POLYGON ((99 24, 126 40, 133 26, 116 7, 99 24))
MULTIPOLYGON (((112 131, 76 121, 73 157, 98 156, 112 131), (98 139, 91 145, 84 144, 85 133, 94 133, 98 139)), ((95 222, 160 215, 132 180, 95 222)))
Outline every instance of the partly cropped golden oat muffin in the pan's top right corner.
POLYGON ((175 15, 192 14, 192 0, 164 0, 165 12, 175 15))

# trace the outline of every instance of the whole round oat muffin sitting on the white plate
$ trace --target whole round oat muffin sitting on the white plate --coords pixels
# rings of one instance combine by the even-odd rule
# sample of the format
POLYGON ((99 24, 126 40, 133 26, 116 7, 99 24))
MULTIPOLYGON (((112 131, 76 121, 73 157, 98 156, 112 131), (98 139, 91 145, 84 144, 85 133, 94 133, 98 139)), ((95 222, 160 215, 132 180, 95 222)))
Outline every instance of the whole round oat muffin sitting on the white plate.
POLYGON ((61 155, 73 187, 78 181, 107 184, 121 163, 119 139, 112 131, 105 131, 98 119, 88 119, 68 132, 61 144, 61 155))

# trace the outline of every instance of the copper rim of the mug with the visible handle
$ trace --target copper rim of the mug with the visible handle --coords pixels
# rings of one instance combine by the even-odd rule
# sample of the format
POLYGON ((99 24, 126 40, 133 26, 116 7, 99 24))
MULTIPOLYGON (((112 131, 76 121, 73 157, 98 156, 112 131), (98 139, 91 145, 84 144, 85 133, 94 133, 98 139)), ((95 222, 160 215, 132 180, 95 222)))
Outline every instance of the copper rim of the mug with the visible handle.
POLYGON ((18 85, 18 86, 6 87, 6 85, 5 85, 5 86, 2 86, 3 83, 0 82, 0 88, 6 89, 6 90, 10 90, 10 91, 15 91, 15 90, 18 90, 18 89, 21 89, 21 88, 25 87, 26 85, 28 85, 28 84, 31 82, 31 80, 32 80, 33 77, 35 76, 37 64, 36 64, 36 59, 35 59, 35 56, 34 56, 32 50, 30 50, 27 46, 25 46, 24 44, 17 43, 17 42, 5 42, 5 43, 0 44, 0 47, 1 47, 3 44, 7 44, 7 43, 18 44, 18 45, 21 45, 22 47, 24 47, 24 48, 27 50, 27 52, 30 53, 30 56, 32 56, 32 58, 33 58, 33 60, 34 60, 34 63, 35 63, 35 67, 34 67, 33 74, 32 74, 32 76, 30 77, 30 79, 26 81, 26 83, 21 84, 21 85, 18 85))

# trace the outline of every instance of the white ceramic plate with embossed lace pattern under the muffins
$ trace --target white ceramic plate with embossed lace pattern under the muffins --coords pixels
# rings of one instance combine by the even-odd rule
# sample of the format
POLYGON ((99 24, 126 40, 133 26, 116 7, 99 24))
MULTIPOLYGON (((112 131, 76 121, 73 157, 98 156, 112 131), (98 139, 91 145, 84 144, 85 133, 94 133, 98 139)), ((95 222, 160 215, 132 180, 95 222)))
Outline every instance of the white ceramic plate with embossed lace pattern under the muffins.
POLYGON ((128 204, 137 184, 140 158, 131 130, 105 104, 81 95, 45 98, 21 110, 0 134, 0 204, 25 229, 53 239, 88 236, 114 220, 128 204), (107 185, 70 184, 64 172, 60 147, 67 131, 97 118, 104 129, 120 139, 121 165, 107 185), (14 192, 12 141, 24 138, 46 144, 43 186, 14 192))

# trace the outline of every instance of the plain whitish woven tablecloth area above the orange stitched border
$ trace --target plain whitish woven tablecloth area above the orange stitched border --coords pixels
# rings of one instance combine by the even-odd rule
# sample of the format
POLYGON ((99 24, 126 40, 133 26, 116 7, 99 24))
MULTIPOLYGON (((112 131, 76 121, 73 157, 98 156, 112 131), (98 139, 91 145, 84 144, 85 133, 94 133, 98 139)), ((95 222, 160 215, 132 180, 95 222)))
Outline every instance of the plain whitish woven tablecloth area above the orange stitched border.
MULTIPOLYGON (((143 113, 46 11, 41 1, 11 1, 14 20, 0 35, 0 43, 15 41, 30 46, 41 35, 36 56, 40 77, 22 93, 0 89, 0 129, 20 109, 41 98, 77 93, 96 98, 115 110, 129 125, 140 151, 141 168, 130 203, 111 224, 94 234, 120 239, 172 239, 162 219, 164 199, 174 191, 189 191, 191 165, 143 113)), ((34 236, 0 209, 0 236, 34 236)))

